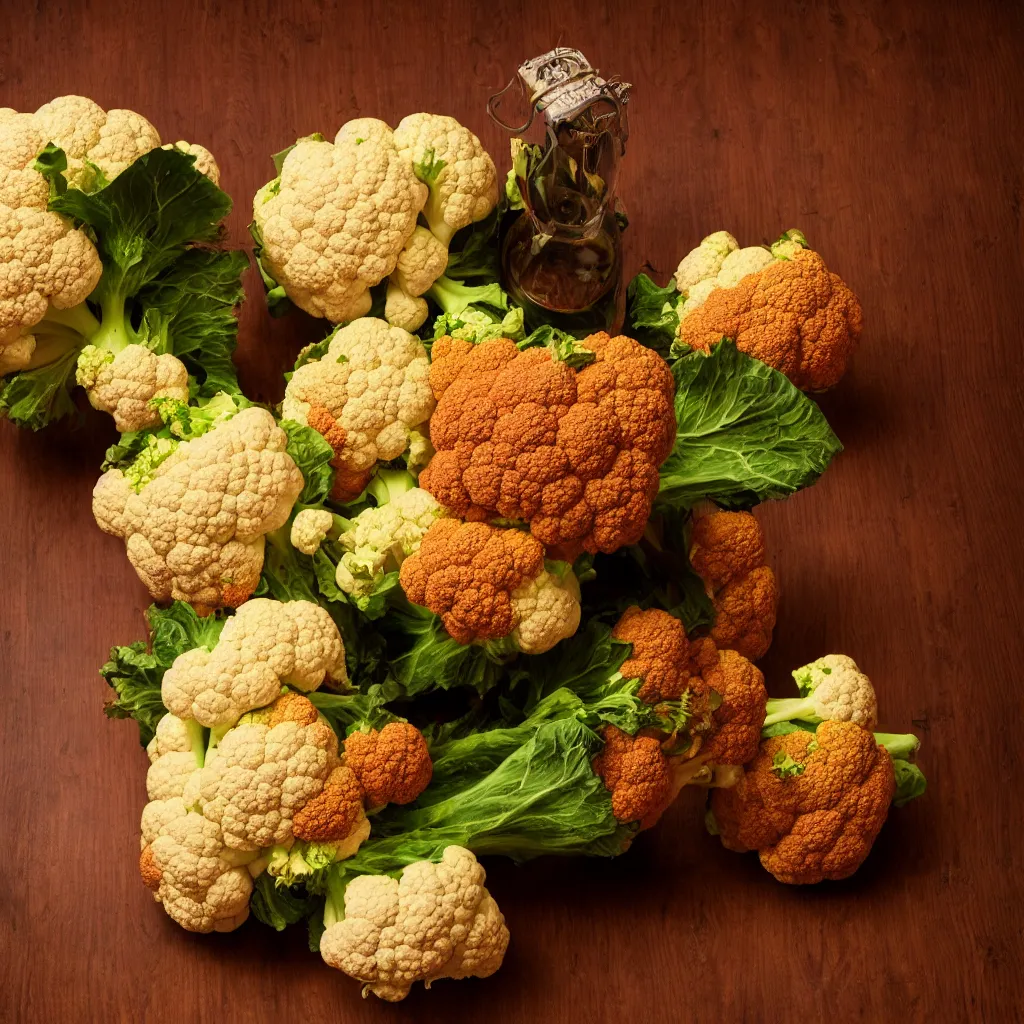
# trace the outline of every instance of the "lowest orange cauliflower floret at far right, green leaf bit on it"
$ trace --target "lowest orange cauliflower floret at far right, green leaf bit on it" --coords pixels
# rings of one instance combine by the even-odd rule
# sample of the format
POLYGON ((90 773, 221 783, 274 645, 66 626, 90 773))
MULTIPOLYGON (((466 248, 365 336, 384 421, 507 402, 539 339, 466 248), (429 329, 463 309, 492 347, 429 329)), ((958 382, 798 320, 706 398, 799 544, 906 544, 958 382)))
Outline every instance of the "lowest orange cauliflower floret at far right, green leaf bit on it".
POLYGON ((853 722, 824 722, 761 743, 730 788, 715 790, 710 824, 729 850, 757 850, 779 882, 849 878, 885 823, 893 761, 853 722))

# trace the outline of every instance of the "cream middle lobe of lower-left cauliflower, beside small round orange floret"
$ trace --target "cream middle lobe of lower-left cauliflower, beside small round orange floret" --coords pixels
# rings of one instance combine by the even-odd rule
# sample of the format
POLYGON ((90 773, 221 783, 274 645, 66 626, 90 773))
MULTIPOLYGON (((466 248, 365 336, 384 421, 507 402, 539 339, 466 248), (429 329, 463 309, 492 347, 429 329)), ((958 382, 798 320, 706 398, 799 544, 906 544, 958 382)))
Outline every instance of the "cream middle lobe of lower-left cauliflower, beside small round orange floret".
POLYGON ((203 767, 203 814, 232 849, 286 843, 293 815, 321 795, 337 765, 338 737, 324 722, 237 725, 203 767))

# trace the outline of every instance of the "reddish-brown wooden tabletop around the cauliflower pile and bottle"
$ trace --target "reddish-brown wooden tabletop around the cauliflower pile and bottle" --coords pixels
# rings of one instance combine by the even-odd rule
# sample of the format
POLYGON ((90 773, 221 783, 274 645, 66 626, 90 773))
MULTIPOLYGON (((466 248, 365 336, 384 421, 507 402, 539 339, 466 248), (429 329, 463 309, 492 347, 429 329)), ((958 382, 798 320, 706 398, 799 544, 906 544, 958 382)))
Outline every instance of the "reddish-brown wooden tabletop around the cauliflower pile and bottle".
MULTIPOLYGON (((684 799, 612 862, 488 864, 512 930, 485 982, 406 1004, 256 923, 197 937, 136 873, 145 762, 95 670, 146 595, 89 494, 109 419, 0 424, 0 1020, 1019 1020, 1024 811, 1019 526, 1024 8, 1019 3, 316 0, 5 4, 0 103, 85 92, 209 145, 247 244, 267 155, 355 116, 471 125, 520 58, 580 46, 635 83, 628 267, 708 231, 800 225, 860 295, 855 366, 822 404, 847 451, 762 510, 783 588, 764 668, 841 650, 885 725, 924 737, 927 797, 855 879, 775 884, 684 799), (128 11, 131 13, 128 13, 128 11)), ((250 286, 255 286, 252 274, 250 286)), ((316 328, 255 287, 240 364, 259 398, 316 328)))

